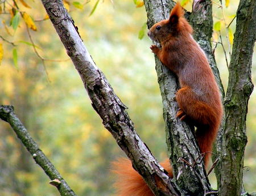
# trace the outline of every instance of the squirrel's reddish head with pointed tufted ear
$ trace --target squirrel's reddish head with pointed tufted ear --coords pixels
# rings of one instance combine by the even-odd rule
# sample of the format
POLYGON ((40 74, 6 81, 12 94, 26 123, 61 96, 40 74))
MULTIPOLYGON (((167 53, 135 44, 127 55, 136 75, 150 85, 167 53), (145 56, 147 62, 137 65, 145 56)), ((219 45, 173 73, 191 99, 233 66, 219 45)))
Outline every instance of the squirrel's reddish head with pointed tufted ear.
POLYGON ((177 35, 192 33, 191 25, 184 18, 184 10, 177 2, 172 9, 169 19, 154 24, 147 35, 151 40, 162 44, 164 41, 172 39, 177 35))

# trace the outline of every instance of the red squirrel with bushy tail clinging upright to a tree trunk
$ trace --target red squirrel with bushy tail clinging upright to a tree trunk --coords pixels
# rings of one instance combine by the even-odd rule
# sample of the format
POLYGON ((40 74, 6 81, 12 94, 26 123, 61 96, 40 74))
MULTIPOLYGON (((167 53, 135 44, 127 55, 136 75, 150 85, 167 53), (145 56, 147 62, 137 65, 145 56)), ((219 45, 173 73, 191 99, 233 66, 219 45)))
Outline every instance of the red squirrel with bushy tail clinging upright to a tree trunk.
MULTIPOLYGON (((162 45, 162 48, 151 45, 150 49, 179 79, 181 88, 176 93, 179 105, 176 117, 196 126, 197 141, 201 152, 206 152, 207 167, 221 123, 222 104, 207 57, 193 39, 192 31, 184 18, 183 8, 177 3, 170 18, 153 25, 147 35, 162 45)), ((169 160, 160 164, 173 177, 169 160)), ((128 159, 115 162, 114 173, 118 176, 115 183, 118 195, 154 195, 128 159)))

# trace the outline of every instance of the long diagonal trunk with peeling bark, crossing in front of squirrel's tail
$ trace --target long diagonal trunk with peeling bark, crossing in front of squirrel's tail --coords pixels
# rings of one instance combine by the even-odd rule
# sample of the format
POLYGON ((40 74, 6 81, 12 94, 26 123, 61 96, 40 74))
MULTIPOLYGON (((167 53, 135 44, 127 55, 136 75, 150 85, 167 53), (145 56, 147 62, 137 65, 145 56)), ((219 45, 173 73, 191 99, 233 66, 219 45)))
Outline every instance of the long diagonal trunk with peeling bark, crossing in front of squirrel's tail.
POLYGON ((125 110, 126 106, 115 95, 104 74, 96 67, 62 1, 42 0, 42 3, 84 82, 93 108, 129 157, 134 168, 155 195, 183 195, 137 135, 125 110))

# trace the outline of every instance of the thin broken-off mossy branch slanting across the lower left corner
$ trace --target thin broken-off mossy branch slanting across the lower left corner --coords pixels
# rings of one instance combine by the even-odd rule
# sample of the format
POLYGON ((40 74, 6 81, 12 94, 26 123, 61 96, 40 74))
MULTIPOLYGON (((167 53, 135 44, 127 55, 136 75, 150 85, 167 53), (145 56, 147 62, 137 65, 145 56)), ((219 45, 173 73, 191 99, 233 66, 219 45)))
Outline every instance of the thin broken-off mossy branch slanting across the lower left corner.
POLYGON ((15 131, 17 137, 22 141, 24 146, 27 148, 28 152, 32 155, 35 162, 40 165, 44 170, 47 176, 51 180, 59 180, 60 183, 50 182, 52 185, 56 186, 59 190, 60 195, 75 196, 75 193, 71 188, 69 188, 67 182, 60 176, 60 173, 52 165, 44 155, 44 153, 39 149, 38 144, 31 138, 30 134, 20 122, 19 118, 14 113, 13 106, 10 105, 1 105, 0 106, 0 118, 3 121, 9 122, 13 130, 15 131))

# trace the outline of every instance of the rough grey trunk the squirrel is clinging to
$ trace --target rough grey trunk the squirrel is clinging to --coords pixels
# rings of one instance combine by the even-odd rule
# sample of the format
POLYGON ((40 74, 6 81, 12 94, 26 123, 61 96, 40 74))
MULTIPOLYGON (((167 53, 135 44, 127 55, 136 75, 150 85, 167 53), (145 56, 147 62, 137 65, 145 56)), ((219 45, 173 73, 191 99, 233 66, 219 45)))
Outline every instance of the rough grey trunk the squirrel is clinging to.
MULTIPOLYGON (((170 10, 175 3, 171 1, 145 0, 144 5, 148 16, 148 28, 150 28, 156 22, 168 18, 170 10)), ((186 190, 189 195, 203 194, 210 191, 203 165, 197 163, 195 168, 192 169, 184 161, 179 160, 180 158, 185 159, 193 165, 196 158, 200 156, 200 150, 197 147, 193 127, 189 127, 185 122, 176 120, 178 105, 175 96, 179 88, 177 78, 160 63, 158 58, 155 59, 155 62, 158 83, 162 93, 163 117, 166 122, 167 146, 174 171, 174 181, 180 188, 186 190)))

